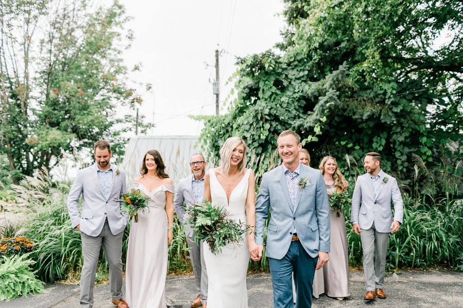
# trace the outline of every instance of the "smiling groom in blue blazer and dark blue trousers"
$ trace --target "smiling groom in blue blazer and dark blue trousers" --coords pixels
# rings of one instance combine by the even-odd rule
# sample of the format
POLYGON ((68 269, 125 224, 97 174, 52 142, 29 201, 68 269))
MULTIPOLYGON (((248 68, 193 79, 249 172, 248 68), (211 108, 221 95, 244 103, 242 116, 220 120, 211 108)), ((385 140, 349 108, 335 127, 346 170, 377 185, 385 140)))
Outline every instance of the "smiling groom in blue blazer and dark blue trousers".
POLYGON ((270 264, 275 308, 293 308, 293 272, 296 308, 311 307, 315 269, 329 260, 330 217, 325 181, 319 170, 299 163, 301 148, 297 133, 280 133, 278 152, 283 163, 263 174, 256 200, 258 249, 250 253, 255 261, 262 257, 270 207, 265 256, 270 264))

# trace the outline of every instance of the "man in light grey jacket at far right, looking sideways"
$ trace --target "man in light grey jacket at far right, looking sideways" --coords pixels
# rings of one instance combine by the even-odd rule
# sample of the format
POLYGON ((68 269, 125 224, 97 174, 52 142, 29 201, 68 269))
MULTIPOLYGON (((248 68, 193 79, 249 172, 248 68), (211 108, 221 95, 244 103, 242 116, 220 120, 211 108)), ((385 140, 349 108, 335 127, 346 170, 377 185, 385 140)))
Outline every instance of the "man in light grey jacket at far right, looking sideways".
POLYGON ((360 235, 363 271, 367 293, 365 300, 386 298, 383 291, 389 233, 402 224, 403 201, 397 180, 381 170, 381 155, 369 152, 363 161, 366 174, 357 178, 352 195, 350 221, 360 235), (394 203, 394 219, 391 211, 394 203), (373 265, 373 252, 376 254, 373 265))

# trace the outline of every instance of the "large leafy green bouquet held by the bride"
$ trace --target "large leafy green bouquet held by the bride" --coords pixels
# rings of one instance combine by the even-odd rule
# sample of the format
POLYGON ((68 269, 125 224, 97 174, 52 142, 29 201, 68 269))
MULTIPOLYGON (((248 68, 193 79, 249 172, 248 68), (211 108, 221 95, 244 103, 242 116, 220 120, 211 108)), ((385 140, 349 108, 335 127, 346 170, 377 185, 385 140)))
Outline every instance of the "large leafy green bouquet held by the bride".
POLYGON ((239 245, 243 234, 250 228, 244 222, 237 223, 227 218, 228 212, 223 207, 214 207, 206 199, 203 203, 193 204, 186 210, 186 224, 193 232, 194 241, 209 244, 210 252, 217 255, 228 243, 239 245))

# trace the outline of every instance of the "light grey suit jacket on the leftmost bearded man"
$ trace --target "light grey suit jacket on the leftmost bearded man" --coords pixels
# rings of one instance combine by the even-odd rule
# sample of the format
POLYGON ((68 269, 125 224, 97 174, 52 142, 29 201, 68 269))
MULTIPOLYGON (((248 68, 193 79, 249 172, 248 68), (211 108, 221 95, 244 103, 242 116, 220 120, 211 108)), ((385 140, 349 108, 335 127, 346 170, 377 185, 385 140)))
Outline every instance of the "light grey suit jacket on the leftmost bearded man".
POLYGON ((81 169, 67 196, 67 210, 73 228, 80 224, 81 232, 90 236, 98 236, 108 217, 108 224, 113 235, 119 234, 127 225, 128 214, 121 213, 118 201, 126 192, 126 176, 124 171, 111 164, 113 169, 113 188, 108 199, 103 197, 103 190, 97 175, 97 165, 81 169), (82 213, 79 215, 79 198, 82 195, 82 213))

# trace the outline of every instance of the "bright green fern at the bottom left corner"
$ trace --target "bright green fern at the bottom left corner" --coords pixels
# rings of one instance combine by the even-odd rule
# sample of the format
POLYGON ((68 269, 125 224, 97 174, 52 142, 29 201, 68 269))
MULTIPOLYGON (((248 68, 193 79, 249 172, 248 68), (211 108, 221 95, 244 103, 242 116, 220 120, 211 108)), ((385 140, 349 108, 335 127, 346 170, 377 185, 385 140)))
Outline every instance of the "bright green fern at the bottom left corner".
POLYGON ((11 300, 33 293, 44 293, 43 282, 35 278, 27 259, 29 254, 13 255, 0 260, 0 300, 11 300))

